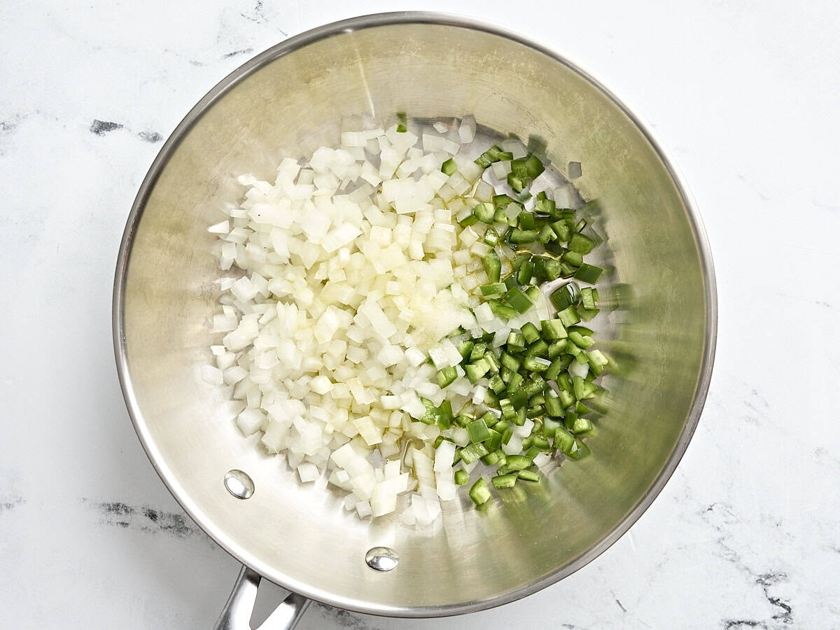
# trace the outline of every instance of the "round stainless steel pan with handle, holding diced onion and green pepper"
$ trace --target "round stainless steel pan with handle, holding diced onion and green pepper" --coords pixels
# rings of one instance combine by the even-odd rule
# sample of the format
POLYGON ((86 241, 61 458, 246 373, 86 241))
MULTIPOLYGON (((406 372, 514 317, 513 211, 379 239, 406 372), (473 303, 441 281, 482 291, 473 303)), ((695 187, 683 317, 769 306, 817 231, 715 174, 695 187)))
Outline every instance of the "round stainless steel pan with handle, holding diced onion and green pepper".
MULTIPOLYGON (((329 24, 266 50, 207 93, 140 187, 113 294, 117 365, 134 428, 186 512, 247 569, 220 620, 236 627, 260 575, 353 611, 432 617, 538 591, 601 554, 650 505, 685 452, 706 397, 716 337, 709 247, 685 185, 649 130, 580 68, 527 39, 466 18, 386 13, 329 24), (435 535, 360 522, 331 491, 302 487, 260 453, 199 374, 222 274, 207 225, 284 155, 338 139, 342 118, 475 114, 500 134, 541 139, 559 172, 601 204, 612 265, 604 337, 617 360, 593 456, 561 465, 490 509, 444 510, 435 535), (255 484, 247 500, 228 470, 255 484), (396 570, 365 563, 375 546, 396 570)), ((468 501, 468 500, 467 500, 468 501)), ((275 622, 278 622, 275 619, 275 622)))

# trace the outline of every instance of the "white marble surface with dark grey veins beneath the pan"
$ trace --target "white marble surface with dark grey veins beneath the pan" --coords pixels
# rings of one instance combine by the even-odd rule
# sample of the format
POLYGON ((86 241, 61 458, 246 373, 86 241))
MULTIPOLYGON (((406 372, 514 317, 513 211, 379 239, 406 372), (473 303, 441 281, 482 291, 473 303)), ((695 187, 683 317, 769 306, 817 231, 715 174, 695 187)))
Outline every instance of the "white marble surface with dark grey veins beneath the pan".
MULTIPOLYGON (((312 606, 300 627, 840 627, 840 10, 787 4, 426 3, 554 46, 653 124, 714 251, 715 373, 662 495, 575 575, 468 617, 312 606)), ((123 223, 161 139, 228 71, 389 8, 0 3, 0 626, 210 627, 238 567, 182 516, 123 406, 123 223)))

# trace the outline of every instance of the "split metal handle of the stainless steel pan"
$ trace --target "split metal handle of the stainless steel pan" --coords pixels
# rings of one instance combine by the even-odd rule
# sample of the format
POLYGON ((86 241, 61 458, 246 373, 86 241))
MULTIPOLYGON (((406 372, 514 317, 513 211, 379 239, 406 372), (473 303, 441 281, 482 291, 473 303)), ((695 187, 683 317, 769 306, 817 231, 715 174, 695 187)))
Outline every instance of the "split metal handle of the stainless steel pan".
POLYGON ((292 630, 311 603, 306 597, 289 593, 259 628, 251 628, 251 615, 262 576, 243 566, 214 630, 292 630))

